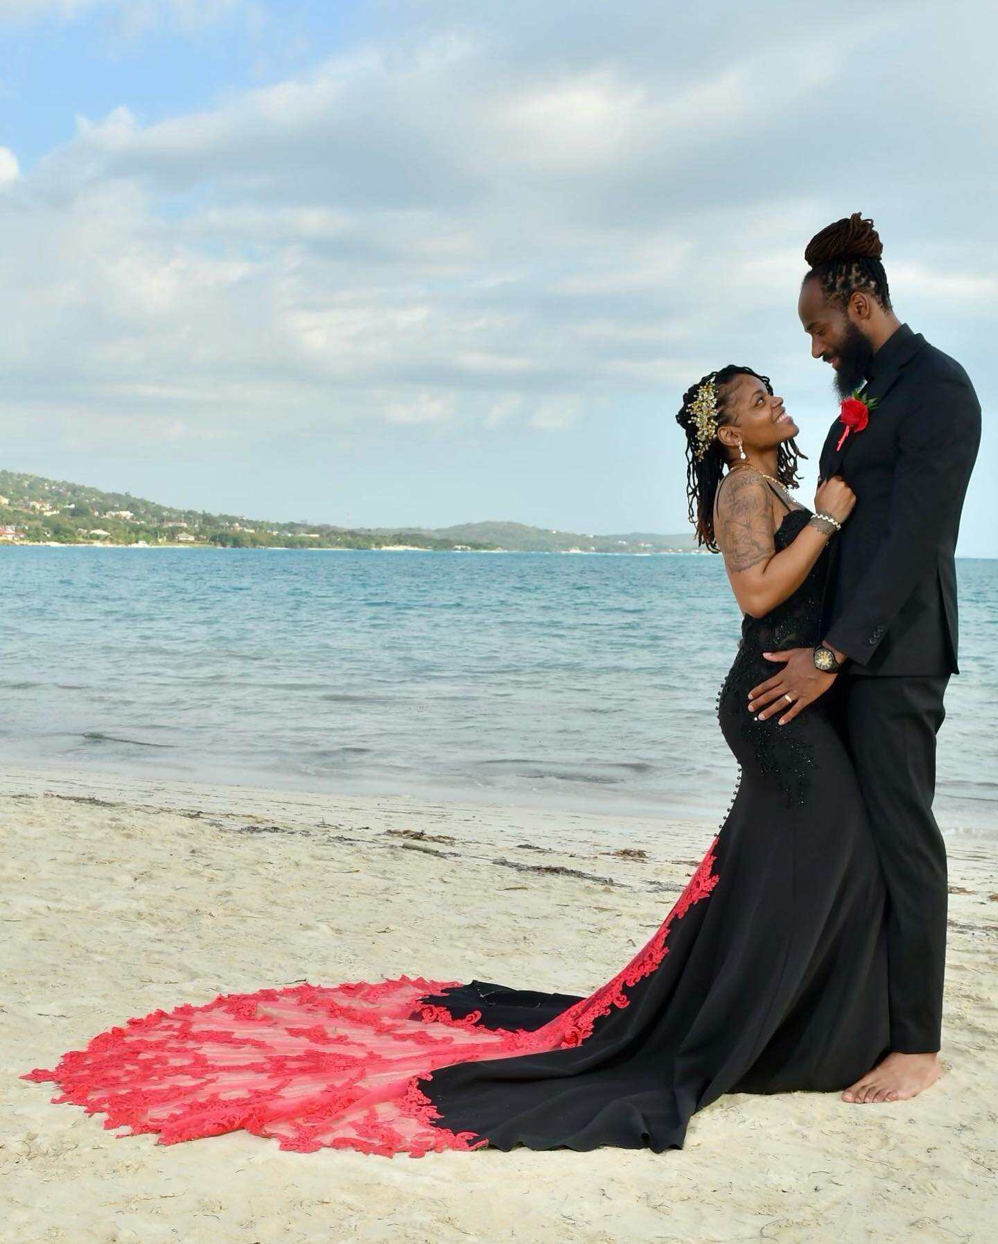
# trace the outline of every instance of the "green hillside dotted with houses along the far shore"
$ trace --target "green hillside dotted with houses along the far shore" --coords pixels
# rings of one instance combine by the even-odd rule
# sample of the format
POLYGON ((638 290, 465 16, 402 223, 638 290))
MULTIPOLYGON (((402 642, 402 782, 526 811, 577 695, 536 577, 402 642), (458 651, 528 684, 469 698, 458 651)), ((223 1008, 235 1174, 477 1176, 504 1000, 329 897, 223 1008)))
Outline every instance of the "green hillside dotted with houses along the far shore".
POLYGON ((7 544, 215 545, 232 549, 508 550, 511 552, 690 551, 692 536, 590 535, 521 522, 452 527, 338 527, 209 514, 159 505, 130 493, 0 470, 0 541, 7 544))

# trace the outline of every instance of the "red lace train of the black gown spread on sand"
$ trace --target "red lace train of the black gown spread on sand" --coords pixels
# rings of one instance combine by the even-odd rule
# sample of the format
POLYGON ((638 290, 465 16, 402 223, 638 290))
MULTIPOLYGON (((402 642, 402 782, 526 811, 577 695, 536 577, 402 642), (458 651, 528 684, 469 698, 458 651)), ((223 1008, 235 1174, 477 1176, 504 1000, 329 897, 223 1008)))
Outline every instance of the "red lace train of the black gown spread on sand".
POLYGON ((650 940, 610 982, 533 1031, 476 1026, 424 996, 460 982, 400 977, 331 988, 296 985, 225 994, 129 1019, 25 1080, 55 1081, 55 1102, 107 1115, 104 1127, 158 1132, 174 1144, 239 1128, 281 1148, 353 1148, 421 1157, 476 1149, 475 1132, 452 1132, 420 1085, 455 1062, 580 1045, 595 1021, 626 1006, 626 990, 667 954, 669 931, 717 884, 715 845, 650 940))

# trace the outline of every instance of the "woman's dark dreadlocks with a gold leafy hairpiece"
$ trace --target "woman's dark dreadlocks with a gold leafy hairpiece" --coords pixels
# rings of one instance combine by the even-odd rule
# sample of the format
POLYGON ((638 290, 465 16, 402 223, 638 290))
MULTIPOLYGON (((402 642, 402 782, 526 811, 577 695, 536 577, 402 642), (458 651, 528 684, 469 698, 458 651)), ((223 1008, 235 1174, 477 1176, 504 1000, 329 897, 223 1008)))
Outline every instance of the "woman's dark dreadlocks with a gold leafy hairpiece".
MULTIPOLYGON (((686 498, 690 522, 696 527, 697 544, 706 545, 711 552, 721 551, 713 534, 713 501, 728 465, 728 452, 717 439, 717 428, 731 420, 731 414, 726 409, 727 383, 736 376, 754 376, 762 381, 772 397, 773 386, 768 376, 761 376, 751 367, 736 367, 730 363, 720 372, 708 372, 689 388, 676 414, 676 423, 686 433, 686 498)), ((777 479, 784 488, 797 488, 800 483, 797 464, 798 459, 804 457, 793 440, 783 442, 777 449, 777 479)))

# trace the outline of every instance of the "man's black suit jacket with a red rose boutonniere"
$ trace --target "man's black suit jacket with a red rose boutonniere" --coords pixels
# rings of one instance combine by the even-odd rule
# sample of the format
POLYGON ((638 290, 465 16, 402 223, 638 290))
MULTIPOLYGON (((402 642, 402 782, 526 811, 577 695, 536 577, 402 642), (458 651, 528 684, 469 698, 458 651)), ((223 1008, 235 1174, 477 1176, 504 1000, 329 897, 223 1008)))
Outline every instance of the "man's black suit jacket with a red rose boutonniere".
POLYGON ((870 422, 835 422, 820 474, 856 508, 831 541, 823 629, 854 674, 957 673, 955 551, 981 443, 981 403, 955 360, 902 325, 874 355, 870 422))

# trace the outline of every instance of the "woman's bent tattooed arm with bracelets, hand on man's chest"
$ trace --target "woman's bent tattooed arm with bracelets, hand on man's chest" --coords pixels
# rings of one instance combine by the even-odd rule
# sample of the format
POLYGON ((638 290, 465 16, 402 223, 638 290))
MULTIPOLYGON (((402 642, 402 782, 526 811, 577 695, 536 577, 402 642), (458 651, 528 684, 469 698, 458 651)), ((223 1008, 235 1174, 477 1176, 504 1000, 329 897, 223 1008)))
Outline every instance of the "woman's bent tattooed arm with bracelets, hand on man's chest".
POLYGON ((726 476, 717 498, 717 545, 725 555, 731 588, 743 612, 763 617, 808 577, 828 535, 808 524, 782 552, 773 542, 773 501, 754 471, 726 476))

